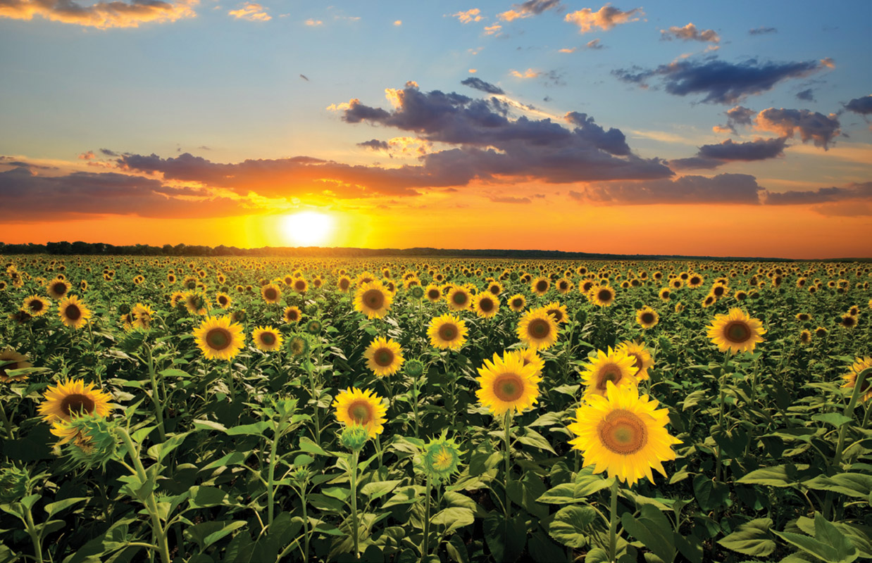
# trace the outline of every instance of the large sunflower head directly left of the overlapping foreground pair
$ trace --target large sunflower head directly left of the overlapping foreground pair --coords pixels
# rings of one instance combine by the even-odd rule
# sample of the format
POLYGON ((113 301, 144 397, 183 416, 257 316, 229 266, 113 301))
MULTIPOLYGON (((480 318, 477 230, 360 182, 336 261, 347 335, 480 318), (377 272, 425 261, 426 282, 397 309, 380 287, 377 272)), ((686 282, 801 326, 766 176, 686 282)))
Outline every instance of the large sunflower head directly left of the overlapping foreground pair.
POLYGON ((485 360, 476 378, 481 389, 475 391, 480 403, 494 416, 507 410, 522 412, 538 402, 539 382, 533 363, 524 363, 518 352, 505 351, 502 357, 494 354, 494 361, 485 360))

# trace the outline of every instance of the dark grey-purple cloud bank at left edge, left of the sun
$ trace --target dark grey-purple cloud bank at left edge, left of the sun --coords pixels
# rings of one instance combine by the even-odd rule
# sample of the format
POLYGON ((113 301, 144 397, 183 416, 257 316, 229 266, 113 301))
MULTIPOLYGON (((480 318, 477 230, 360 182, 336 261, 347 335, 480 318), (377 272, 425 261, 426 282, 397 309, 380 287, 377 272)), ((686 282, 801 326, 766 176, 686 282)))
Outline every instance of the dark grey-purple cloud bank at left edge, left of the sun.
POLYGON ((88 214, 220 217, 244 211, 235 200, 210 197, 193 188, 166 187, 160 180, 141 176, 90 172, 44 176, 26 167, 0 173, 0 199, 3 220, 63 220, 88 214))

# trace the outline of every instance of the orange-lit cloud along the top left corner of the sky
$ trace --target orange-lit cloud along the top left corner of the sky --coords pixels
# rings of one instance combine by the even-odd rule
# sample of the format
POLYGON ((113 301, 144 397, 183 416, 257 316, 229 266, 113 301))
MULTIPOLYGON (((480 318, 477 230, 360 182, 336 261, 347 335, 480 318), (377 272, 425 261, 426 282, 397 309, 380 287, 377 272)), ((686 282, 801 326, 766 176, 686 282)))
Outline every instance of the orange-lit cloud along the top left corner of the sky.
POLYGON ((140 24, 174 22, 195 17, 199 0, 161 2, 133 0, 82 5, 76 0, 0 0, 0 17, 31 20, 34 16, 52 22, 77 24, 105 30, 112 27, 139 27, 140 24))

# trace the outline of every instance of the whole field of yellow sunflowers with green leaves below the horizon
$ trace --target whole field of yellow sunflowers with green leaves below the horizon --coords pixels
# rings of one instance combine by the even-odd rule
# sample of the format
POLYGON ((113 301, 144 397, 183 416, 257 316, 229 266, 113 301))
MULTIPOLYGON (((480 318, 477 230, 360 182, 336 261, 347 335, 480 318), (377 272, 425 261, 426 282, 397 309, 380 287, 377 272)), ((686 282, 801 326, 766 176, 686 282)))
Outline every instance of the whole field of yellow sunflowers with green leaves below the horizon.
POLYGON ((872 558, 868 263, 0 261, 0 563, 872 558))

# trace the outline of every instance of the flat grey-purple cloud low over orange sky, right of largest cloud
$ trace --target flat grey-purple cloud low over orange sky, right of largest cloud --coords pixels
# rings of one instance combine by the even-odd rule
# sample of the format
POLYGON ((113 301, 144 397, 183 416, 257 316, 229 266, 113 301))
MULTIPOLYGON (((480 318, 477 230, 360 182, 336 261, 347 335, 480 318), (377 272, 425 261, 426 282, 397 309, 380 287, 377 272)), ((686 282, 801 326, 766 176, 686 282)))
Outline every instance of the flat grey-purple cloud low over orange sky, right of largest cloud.
POLYGON ((723 203, 758 205, 763 188, 749 174, 681 176, 675 180, 618 181, 593 184, 570 192, 575 200, 613 205, 723 203))

